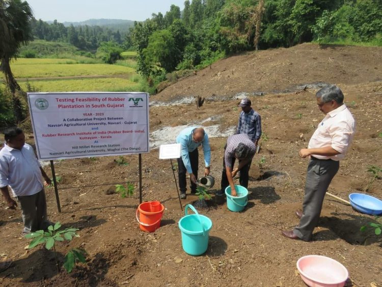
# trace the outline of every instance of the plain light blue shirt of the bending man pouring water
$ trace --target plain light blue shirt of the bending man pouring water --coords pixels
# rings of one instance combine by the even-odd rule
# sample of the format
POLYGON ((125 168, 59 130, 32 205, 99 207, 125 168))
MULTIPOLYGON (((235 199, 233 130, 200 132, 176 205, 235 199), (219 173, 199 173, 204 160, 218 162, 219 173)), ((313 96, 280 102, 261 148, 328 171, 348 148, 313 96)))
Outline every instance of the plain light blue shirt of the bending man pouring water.
POLYGON ((191 163, 189 162, 188 152, 194 151, 200 145, 203 146, 204 164, 206 167, 209 167, 211 160, 211 148, 209 146, 207 133, 204 134, 204 138, 201 143, 196 143, 193 140, 193 131, 195 128, 198 128, 198 126, 186 127, 176 137, 176 143, 180 143, 181 145, 180 155, 182 156, 183 164, 188 173, 193 173, 191 163))

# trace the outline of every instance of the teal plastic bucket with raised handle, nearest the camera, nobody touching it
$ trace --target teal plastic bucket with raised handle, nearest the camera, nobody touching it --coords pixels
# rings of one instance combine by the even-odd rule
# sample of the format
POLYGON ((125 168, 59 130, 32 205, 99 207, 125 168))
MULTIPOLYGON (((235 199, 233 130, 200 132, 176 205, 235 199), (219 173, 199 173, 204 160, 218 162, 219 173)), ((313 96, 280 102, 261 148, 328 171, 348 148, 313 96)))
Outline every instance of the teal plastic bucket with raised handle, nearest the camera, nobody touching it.
POLYGON ((212 221, 199 214, 190 204, 186 205, 184 212, 185 216, 179 220, 183 250, 189 255, 202 255, 208 248, 208 233, 212 228, 212 221), (188 208, 195 214, 187 214, 188 208))

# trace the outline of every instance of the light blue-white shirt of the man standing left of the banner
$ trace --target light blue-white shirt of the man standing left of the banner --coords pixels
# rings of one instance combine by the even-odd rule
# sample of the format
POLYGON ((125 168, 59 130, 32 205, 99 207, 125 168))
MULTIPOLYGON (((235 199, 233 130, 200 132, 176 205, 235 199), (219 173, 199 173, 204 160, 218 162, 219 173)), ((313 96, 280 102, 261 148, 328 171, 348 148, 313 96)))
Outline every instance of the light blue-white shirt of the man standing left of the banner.
POLYGON ((43 189, 42 174, 32 146, 0 150, 0 187, 9 186, 13 196, 33 195, 43 189))

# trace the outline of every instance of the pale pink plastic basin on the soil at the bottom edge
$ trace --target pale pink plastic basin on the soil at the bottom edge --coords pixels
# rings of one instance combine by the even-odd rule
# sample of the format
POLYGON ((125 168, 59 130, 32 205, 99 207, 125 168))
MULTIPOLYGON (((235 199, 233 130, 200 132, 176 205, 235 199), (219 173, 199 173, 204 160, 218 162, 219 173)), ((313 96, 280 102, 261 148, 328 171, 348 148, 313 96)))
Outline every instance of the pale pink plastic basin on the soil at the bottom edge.
POLYGON ((304 282, 311 287, 342 287, 349 277, 341 263, 321 255, 299 258, 297 269, 304 282))

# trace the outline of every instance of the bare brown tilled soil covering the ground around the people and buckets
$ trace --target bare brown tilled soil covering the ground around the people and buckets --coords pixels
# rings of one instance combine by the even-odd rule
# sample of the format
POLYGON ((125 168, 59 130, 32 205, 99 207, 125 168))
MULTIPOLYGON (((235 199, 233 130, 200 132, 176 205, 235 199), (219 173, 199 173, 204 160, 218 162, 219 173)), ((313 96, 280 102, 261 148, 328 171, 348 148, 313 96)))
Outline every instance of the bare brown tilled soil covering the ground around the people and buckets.
MULTIPOLYGON (((225 204, 216 205, 213 200, 208 210, 199 210, 213 226, 207 252, 190 256, 182 249, 178 221, 184 212, 180 210, 171 164, 158 159, 157 149, 142 155, 143 200, 159 200, 166 207, 161 227, 154 233, 142 232, 135 219, 138 188, 132 197, 113 193, 115 182, 138 184, 138 155, 125 156, 127 166, 118 165, 115 157, 60 161, 55 167, 61 176, 62 213, 57 212, 53 189, 47 189, 49 218, 79 228, 80 237, 69 244, 57 244, 59 260, 61 263, 70 248, 81 247, 88 252, 88 264, 78 265, 70 275, 63 269, 57 273, 51 251, 43 247, 24 249, 29 241, 20 237, 20 211, 6 210, 2 202, 0 256, 13 260, 13 266, 0 273, 0 284, 304 286, 296 261, 304 255, 319 254, 347 268, 348 286, 382 286, 381 236, 360 231, 362 225, 375 220, 372 216, 326 197, 312 242, 281 236, 281 229, 298 224, 294 212, 301 208, 304 196, 308 160, 300 159, 298 150, 307 146, 324 116, 316 107, 314 86, 306 91, 281 91, 317 82, 335 83, 343 90, 357 120, 357 134, 329 192, 348 200, 350 193, 364 192, 371 181, 367 166, 382 166, 381 52, 377 47, 303 44, 249 53, 213 64, 153 96, 168 101, 189 95, 216 95, 199 110, 195 105, 151 107, 150 131, 211 116, 221 117, 204 125, 220 124, 224 131, 237 123, 240 112, 238 100, 230 97, 250 93, 254 109, 262 116, 264 136, 252 163, 249 203, 244 211, 232 213, 225 204), (255 91, 265 95, 252 95, 255 91), (262 164, 261 158, 265 160, 262 164)), ((211 174, 216 182, 212 193, 220 188, 225 141, 210 139, 211 174)), ((33 143, 33 138, 29 142, 33 143)), ((202 164, 202 156, 200 159, 202 164)), ((50 173, 48 167, 46 171, 50 173)), ((368 194, 382 198, 381 187, 381 179, 375 179, 368 194)), ((196 199, 187 196, 183 208, 196 199)))

